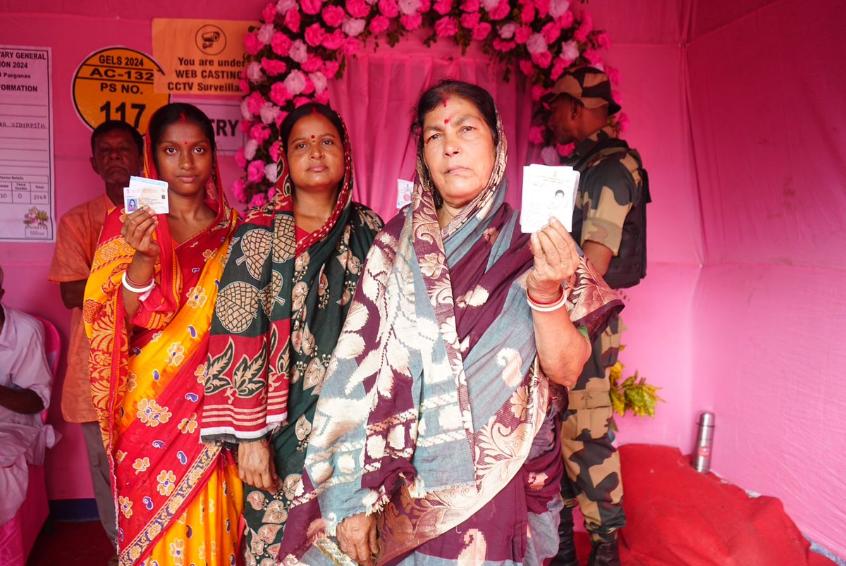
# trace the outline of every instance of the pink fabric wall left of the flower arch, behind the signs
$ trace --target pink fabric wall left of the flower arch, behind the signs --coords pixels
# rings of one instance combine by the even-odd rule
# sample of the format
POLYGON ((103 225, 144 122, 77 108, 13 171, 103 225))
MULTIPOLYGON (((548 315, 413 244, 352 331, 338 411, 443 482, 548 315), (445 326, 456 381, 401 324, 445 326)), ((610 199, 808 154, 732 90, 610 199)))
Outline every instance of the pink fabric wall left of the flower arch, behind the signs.
MULTIPOLYGON (((8 4, 8 3, 7 3, 8 4)), ((102 14, 99 2, 73 3, 70 9, 85 5, 87 14, 97 16, 58 15, 56 7, 44 7, 43 14, 24 13, 31 3, 3 6, 0 16, 0 43, 25 46, 52 47, 53 57, 53 109, 54 152, 56 156, 56 208, 57 218, 70 208, 102 194, 102 180, 91 170, 89 129, 74 110, 71 84, 74 72, 92 52, 103 47, 124 46, 150 53, 151 25, 147 19, 108 17, 102 14), (17 9, 14 9, 17 8, 17 9), (15 13, 17 12, 17 13, 15 13)), ((260 8, 259 8, 260 9, 260 8)), ((185 10, 180 17, 189 17, 185 10)), ((121 14, 133 14, 135 9, 124 7, 121 14)), ((250 18, 255 10, 244 9, 242 14, 228 14, 229 18, 250 18)), ((165 10, 157 12, 165 15, 165 10)), ((152 12, 151 12, 152 15, 152 12)), ((231 157, 221 160, 224 179, 231 183, 238 169, 231 157)), ((14 308, 26 310, 52 321, 62 334, 65 344, 60 377, 49 410, 49 421, 63 435, 62 442, 47 451, 47 493, 51 499, 93 497, 85 442, 80 426, 64 422, 60 394, 67 354, 67 337, 70 313, 59 297, 58 286, 47 282, 53 245, 3 244, 0 245, 0 265, 6 272, 4 302, 14 308)))

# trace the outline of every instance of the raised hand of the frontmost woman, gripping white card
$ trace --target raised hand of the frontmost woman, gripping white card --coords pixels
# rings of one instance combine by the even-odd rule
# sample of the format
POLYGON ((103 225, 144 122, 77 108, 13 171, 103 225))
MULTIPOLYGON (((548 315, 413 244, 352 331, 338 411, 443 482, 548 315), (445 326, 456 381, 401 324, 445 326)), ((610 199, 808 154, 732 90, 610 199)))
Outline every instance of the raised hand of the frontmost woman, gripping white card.
POLYGON ((546 226, 530 238, 535 268, 526 278, 526 290, 532 299, 552 302, 561 296, 561 283, 573 277, 579 267, 579 252, 567 228, 552 217, 546 226))

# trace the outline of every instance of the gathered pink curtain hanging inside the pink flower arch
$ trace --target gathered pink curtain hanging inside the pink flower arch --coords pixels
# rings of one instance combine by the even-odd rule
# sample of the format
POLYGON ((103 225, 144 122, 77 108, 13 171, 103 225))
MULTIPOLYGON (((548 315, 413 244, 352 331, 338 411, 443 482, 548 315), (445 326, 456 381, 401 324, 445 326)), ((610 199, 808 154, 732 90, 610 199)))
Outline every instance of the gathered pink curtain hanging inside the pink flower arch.
POLYGON ((481 51, 466 56, 446 44, 426 48, 422 34, 393 49, 368 50, 331 81, 333 106, 353 138, 355 198, 387 220, 397 212, 397 179, 414 179, 416 140, 409 134, 415 103, 428 85, 445 77, 481 85, 494 100, 508 135, 508 201, 519 206, 522 164, 530 151, 531 99, 525 80, 503 81, 505 67, 481 51))

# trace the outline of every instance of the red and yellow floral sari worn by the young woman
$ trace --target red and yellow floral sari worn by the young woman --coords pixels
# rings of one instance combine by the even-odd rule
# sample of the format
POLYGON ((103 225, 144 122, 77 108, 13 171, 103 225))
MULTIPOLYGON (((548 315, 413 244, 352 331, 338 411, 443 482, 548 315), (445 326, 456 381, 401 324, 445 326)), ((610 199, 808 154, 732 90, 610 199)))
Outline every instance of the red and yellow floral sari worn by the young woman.
MULTIPOLYGON (((149 145, 146 174, 151 167, 149 145)), ((229 240, 239 223, 217 169, 209 228, 177 245, 161 218, 156 287, 127 325, 121 277, 135 253, 109 213, 85 288, 91 392, 112 464, 121 566, 234 564, 243 493, 232 455, 200 442, 203 365, 229 240)))

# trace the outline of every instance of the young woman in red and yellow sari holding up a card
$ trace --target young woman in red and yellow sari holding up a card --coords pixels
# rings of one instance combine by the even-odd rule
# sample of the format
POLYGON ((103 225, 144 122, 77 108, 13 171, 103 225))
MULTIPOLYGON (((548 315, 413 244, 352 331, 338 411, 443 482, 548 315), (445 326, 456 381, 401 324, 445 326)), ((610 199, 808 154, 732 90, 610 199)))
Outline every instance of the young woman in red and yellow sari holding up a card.
POLYGON ((223 195, 209 118, 190 104, 158 110, 144 172, 168 182, 169 211, 109 213, 83 305, 119 563, 228 565, 241 481, 228 450, 200 442, 198 415, 217 282, 239 221, 223 195))

